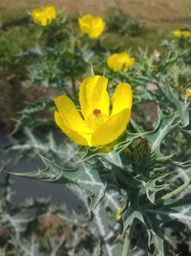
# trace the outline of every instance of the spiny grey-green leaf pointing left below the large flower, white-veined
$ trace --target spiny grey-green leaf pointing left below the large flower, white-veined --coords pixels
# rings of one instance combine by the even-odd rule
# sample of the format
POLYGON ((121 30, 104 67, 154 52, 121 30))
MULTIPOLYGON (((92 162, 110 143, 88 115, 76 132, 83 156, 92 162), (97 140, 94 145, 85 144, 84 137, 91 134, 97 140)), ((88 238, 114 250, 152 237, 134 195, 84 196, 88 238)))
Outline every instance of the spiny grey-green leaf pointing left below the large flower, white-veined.
POLYGON ((75 169, 64 169, 55 164, 54 161, 41 156, 45 169, 39 169, 31 173, 11 173, 23 177, 35 178, 47 182, 77 185, 86 190, 91 199, 88 211, 92 211, 99 200, 104 197, 107 184, 104 183, 99 175, 96 165, 81 163, 75 169))

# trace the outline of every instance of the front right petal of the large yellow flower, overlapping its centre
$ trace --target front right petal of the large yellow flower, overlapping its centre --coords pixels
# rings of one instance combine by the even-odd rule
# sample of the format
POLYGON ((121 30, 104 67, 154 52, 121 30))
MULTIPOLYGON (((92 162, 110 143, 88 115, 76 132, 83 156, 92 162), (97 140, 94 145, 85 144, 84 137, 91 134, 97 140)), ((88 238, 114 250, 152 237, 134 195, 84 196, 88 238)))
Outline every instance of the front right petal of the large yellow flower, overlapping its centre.
POLYGON ((125 130, 130 120, 130 109, 124 109, 116 115, 113 115, 96 129, 92 136, 92 145, 100 146, 109 144, 117 139, 125 130))

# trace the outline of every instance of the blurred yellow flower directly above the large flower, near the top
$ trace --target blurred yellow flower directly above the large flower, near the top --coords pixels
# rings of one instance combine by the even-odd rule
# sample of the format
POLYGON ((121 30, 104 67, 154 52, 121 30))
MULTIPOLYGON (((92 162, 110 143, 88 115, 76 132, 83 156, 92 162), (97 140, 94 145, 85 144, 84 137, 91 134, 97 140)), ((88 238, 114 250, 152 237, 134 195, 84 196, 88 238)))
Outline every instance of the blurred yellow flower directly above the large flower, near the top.
POLYGON ((78 24, 80 31, 92 39, 99 37, 105 30, 105 22, 99 16, 95 17, 90 14, 81 16, 78 18, 78 24))

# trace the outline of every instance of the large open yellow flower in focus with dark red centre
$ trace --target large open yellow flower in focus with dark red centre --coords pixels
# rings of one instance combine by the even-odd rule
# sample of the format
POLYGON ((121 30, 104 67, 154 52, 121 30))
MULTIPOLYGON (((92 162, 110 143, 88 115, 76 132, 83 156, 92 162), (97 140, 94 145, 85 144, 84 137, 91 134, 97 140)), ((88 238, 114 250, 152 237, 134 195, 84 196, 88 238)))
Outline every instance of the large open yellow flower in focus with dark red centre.
POLYGON ((112 98, 107 92, 108 79, 101 76, 86 78, 79 87, 78 112, 73 101, 66 95, 54 99, 58 111, 54 112, 55 123, 79 145, 101 146, 117 139, 130 120, 132 90, 129 83, 117 85, 112 98))

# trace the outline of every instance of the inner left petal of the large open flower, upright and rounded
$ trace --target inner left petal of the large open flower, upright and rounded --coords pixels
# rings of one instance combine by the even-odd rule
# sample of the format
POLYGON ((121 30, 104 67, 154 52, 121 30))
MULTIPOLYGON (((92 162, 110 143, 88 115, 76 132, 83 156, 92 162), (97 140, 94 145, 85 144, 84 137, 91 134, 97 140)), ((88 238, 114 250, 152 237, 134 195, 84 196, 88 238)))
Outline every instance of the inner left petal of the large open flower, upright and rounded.
POLYGON ((56 97, 54 99, 54 103, 57 106, 67 128, 74 129, 79 133, 90 133, 90 129, 86 127, 84 120, 80 116, 71 99, 66 95, 62 95, 56 97))

